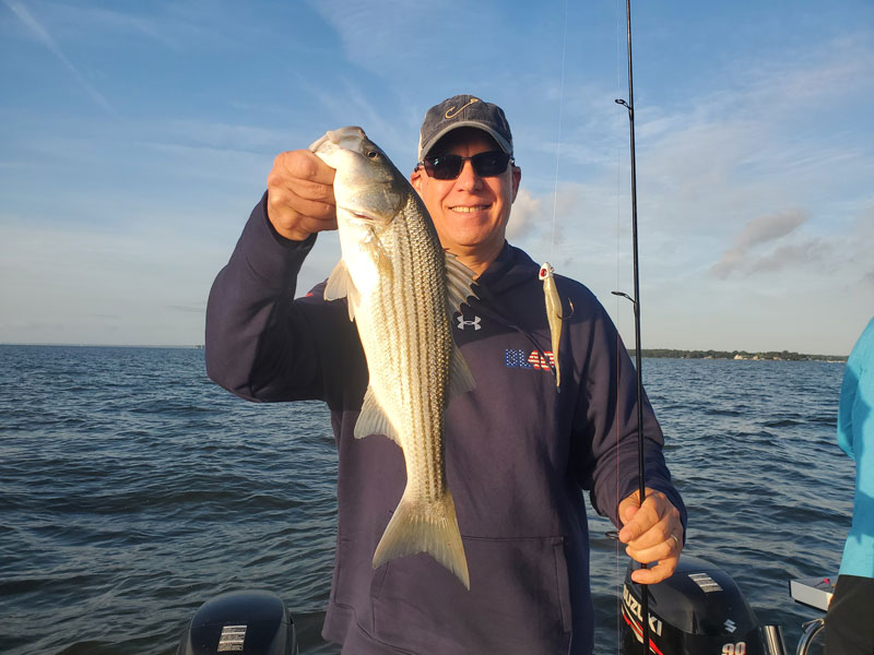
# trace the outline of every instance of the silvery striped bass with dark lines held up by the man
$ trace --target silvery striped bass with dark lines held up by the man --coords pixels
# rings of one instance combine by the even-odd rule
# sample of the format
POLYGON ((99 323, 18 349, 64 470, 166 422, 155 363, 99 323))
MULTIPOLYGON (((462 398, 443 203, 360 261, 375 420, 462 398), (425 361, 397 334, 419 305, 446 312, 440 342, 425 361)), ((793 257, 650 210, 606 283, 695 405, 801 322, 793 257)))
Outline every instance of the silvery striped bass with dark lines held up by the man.
POLYGON ((355 438, 394 440, 406 467, 406 487, 374 568, 427 552, 470 590, 446 481, 444 412, 451 395, 474 388, 449 322, 473 295, 473 272, 444 251, 416 191, 361 128, 328 132, 310 150, 336 170, 342 258, 324 298, 346 298, 367 358, 355 438))

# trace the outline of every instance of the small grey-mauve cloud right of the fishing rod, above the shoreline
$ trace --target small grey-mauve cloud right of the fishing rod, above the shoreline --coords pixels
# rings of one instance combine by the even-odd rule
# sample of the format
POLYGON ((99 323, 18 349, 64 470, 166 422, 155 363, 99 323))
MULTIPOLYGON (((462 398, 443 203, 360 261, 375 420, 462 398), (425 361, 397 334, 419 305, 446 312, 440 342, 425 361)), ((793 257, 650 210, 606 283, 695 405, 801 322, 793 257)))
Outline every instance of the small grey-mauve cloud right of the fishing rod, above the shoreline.
POLYGON ((734 239, 734 246, 727 250, 722 258, 710 269, 717 277, 725 278, 732 271, 776 270, 778 263, 796 254, 792 248, 778 249, 768 258, 754 258, 753 250, 771 241, 792 234, 807 221, 807 215, 800 210, 787 210, 780 214, 760 216, 747 223, 734 239))

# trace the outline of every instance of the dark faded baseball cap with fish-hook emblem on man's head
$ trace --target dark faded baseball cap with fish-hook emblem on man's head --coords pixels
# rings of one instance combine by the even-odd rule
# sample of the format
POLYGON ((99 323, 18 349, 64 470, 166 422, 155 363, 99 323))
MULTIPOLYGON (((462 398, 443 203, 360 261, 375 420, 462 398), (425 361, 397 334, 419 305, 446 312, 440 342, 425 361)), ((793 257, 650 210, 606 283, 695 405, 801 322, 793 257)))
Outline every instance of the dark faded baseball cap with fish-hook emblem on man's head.
POLYGON ((434 144, 458 128, 487 132, 508 155, 512 154, 512 134, 504 110, 472 95, 457 95, 435 105, 425 114, 418 135, 418 160, 434 144))

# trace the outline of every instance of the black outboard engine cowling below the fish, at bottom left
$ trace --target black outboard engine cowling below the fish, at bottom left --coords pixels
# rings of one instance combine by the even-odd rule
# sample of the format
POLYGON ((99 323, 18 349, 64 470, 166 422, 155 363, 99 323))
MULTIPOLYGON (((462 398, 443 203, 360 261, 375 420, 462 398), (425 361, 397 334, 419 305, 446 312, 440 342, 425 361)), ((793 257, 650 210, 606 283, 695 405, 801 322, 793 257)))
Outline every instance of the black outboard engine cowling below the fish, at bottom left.
POLYGON ((231 592, 204 603, 182 631, 176 655, 297 655, 294 621, 270 592, 231 592))

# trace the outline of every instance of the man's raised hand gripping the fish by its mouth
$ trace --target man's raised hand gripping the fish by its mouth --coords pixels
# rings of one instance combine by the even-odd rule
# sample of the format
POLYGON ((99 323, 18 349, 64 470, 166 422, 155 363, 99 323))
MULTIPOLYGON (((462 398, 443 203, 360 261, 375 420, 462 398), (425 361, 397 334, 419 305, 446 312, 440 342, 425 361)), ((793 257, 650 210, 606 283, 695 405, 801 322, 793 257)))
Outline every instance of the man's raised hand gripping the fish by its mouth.
POLYGON ((267 178, 267 214, 286 239, 336 229, 334 169, 309 151, 276 155, 267 178))

